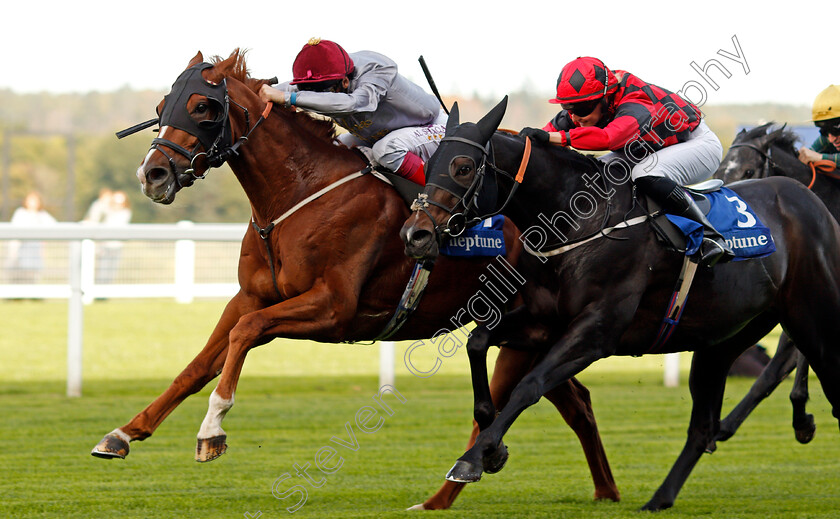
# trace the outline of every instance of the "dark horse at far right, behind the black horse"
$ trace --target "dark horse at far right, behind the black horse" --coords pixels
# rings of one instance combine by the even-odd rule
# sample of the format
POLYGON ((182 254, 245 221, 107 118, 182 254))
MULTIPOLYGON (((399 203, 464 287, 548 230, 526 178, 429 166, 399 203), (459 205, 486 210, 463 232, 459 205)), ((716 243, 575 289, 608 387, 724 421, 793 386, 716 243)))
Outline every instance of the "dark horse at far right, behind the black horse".
MULTIPOLYGON (((840 181, 836 175, 826 175, 818 168, 811 169, 798 158, 798 136, 784 127, 767 123, 751 130, 741 130, 732 141, 729 151, 715 172, 725 183, 751 178, 784 176, 809 186, 823 201, 835 220, 840 217, 840 181)), ((840 221, 840 220, 838 220, 840 221)), ((814 438, 816 425, 813 415, 805 411, 808 401, 808 361, 796 349, 786 333, 779 337, 773 359, 756 379, 749 393, 721 420, 718 440, 729 439, 758 404, 770 396, 794 368, 796 377, 790 392, 793 405, 793 429, 797 441, 808 443, 814 438)))

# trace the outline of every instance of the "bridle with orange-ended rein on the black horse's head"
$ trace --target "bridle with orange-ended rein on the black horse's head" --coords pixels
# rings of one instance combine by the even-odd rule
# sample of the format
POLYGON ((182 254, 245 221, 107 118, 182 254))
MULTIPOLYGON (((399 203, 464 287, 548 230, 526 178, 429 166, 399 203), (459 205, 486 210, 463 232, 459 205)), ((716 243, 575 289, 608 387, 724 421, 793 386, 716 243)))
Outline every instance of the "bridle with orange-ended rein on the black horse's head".
POLYGON ((519 185, 522 183, 522 179, 525 176, 525 170, 528 167, 528 161, 531 157, 531 140, 530 138, 528 138, 525 139, 525 151, 523 152, 522 160, 519 164, 519 170, 517 171, 516 175, 511 175, 507 171, 496 166, 492 139, 488 140, 486 145, 481 145, 478 142, 475 142, 471 139, 466 139, 457 136, 444 137, 443 139, 441 139, 441 145, 444 142, 460 142, 462 144, 467 144, 469 146, 477 148, 481 151, 481 162, 476 167, 475 175, 473 176, 472 182, 470 183, 469 187, 466 188, 463 194, 456 193, 455 190, 447 186, 441 185, 439 183, 426 183, 427 187, 435 187, 437 189, 449 193, 454 198, 456 198, 457 201, 452 207, 447 207, 441 204, 440 202, 429 199, 429 195, 425 192, 418 195, 417 199, 414 200, 414 202, 412 202, 411 211, 422 211, 432 222, 435 231, 435 239, 437 240, 438 244, 443 243, 443 240, 447 237, 454 238, 460 236, 467 228, 472 227, 473 225, 487 218, 496 216, 497 214, 500 214, 502 211, 504 211, 510 203, 510 201, 513 199, 513 196, 516 194, 517 188, 519 188, 519 185), (470 212, 474 212, 480 209, 479 198, 482 194, 482 188, 485 185, 488 168, 492 170, 494 174, 501 174, 502 176, 511 180, 513 182, 513 186, 510 189, 507 199, 500 207, 481 216, 468 217, 467 215, 470 212), (438 224, 435 222, 434 217, 432 217, 432 214, 429 212, 429 206, 435 206, 439 209, 442 209, 449 215, 449 218, 446 220, 445 224, 438 224))

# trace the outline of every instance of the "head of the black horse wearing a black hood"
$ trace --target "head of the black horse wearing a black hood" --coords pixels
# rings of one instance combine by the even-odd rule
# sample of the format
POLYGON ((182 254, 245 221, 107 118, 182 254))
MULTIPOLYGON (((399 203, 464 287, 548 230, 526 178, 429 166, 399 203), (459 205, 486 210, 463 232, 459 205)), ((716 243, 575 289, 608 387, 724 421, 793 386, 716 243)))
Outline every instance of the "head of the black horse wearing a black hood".
POLYGON ((400 231, 407 255, 433 259, 445 239, 497 213, 490 138, 506 108, 507 97, 478 123, 459 124, 453 106, 446 136, 426 163, 426 188, 400 231))

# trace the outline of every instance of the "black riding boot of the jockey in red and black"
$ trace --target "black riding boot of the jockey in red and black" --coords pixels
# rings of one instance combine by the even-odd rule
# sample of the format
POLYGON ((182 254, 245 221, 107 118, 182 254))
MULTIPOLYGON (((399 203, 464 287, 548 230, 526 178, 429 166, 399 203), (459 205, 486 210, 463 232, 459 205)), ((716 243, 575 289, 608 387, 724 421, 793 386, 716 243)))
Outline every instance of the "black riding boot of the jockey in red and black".
POLYGON ((712 267, 735 257, 726 239, 706 219, 694 198, 682 186, 665 177, 640 177, 636 179, 636 185, 656 200, 666 213, 688 218, 703 226, 703 242, 696 253, 700 266, 712 267))

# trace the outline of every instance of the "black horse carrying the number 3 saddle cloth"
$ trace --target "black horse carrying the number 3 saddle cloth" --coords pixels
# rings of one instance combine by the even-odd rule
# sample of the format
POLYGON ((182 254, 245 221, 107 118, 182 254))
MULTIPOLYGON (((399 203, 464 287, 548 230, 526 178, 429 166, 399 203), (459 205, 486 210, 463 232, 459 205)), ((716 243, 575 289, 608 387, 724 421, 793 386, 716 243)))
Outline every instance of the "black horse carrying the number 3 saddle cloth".
POLYGON ((468 341, 481 432, 448 479, 480 479, 517 416, 594 361, 694 351, 687 441, 644 506, 669 508, 713 445, 730 365, 778 323, 810 361, 840 418, 840 227, 813 193, 787 178, 730 186, 771 230, 777 250, 699 269, 670 341, 654 348, 684 255, 664 248, 644 224, 630 168, 605 169, 560 147, 535 146, 526 161, 523 138, 495 131, 505 108, 506 99, 477 124, 458 124, 453 109, 427 163, 417 210, 401 231, 409 255, 434 258, 443 237, 501 211, 526 245, 518 266, 527 280, 525 305, 495 326, 478 326, 468 341), (497 414, 481 372, 489 345, 508 341, 541 357, 497 414))

